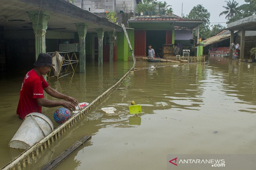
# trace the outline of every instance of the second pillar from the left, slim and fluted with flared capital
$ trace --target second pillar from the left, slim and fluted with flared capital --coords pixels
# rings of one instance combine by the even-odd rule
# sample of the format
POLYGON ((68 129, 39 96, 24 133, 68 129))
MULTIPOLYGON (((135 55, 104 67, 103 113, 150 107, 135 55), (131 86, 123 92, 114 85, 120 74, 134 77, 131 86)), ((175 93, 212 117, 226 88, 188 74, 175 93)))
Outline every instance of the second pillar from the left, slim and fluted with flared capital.
POLYGON ((76 29, 78 30, 79 37, 79 66, 80 73, 86 71, 86 52, 85 52, 85 37, 87 33, 88 25, 86 23, 76 23, 76 29))

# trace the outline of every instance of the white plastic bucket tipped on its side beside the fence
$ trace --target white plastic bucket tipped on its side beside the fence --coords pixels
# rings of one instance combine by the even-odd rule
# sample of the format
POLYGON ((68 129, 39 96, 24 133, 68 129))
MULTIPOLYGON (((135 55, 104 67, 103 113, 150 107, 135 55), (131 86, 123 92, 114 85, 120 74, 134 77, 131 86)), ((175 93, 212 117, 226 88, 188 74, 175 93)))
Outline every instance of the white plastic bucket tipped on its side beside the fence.
POLYGON ((53 131, 53 123, 41 113, 30 113, 9 142, 9 148, 27 149, 53 131))

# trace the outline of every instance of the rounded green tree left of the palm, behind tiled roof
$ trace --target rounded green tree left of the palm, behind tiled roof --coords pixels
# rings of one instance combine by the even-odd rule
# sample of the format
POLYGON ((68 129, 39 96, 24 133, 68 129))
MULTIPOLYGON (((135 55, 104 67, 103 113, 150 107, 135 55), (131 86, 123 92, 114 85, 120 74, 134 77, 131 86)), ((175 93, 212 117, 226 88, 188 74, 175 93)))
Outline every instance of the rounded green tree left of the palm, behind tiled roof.
POLYGON ((201 4, 194 6, 185 18, 190 20, 203 20, 204 23, 199 27, 199 35, 202 38, 210 37, 210 13, 201 4))

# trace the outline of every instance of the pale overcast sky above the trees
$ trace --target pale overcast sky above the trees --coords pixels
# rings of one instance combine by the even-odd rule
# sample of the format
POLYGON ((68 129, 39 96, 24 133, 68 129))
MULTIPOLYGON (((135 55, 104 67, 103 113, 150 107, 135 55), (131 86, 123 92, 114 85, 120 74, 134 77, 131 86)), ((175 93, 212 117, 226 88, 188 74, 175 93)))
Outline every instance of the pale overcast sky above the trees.
MULTIPOLYGON (((219 17, 220 13, 225 10, 222 6, 226 6, 227 2, 225 0, 165 0, 168 5, 171 5, 173 8, 174 14, 181 16, 181 9, 183 3, 183 14, 186 16, 189 14, 190 10, 197 6, 198 4, 202 4, 204 8, 210 12, 210 25, 218 24, 214 22, 227 22, 225 19, 225 15, 219 17)), ((230 0, 232 2, 232 0, 230 0)), ((235 0, 238 2, 238 6, 244 4, 244 0, 235 0)), ((223 26, 227 26, 225 23, 220 23, 223 26)))

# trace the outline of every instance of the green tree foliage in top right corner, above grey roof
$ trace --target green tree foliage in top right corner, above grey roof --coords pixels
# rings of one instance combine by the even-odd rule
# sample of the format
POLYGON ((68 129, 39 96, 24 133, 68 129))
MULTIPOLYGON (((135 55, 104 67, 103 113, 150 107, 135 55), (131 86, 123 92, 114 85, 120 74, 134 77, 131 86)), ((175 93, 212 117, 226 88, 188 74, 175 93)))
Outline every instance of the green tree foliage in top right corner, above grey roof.
POLYGON ((231 18, 228 22, 243 19, 256 14, 256 0, 244 0, 246 3, 237 7, 240 13, 231 18))

